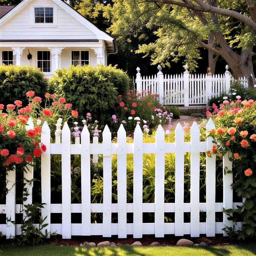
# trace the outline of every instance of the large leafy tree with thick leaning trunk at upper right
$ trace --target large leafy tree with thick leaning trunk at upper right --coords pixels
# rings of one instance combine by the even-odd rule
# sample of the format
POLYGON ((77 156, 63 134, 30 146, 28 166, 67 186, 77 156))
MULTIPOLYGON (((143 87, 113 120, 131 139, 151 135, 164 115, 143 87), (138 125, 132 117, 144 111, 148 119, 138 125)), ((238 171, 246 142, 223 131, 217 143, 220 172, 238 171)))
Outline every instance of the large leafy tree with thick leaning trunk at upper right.
POLYGON ((149 55, 152 64, 170 65, 185 56, 194 70, 199 48, 229 64, 235 78, 246 76, 256 84, 252 64, 256 43, 256 3, 251 0, 116 0, 109 31, 132 40, 143 27, 155 30, 155 42, 142 44, 137 53, 149 55))

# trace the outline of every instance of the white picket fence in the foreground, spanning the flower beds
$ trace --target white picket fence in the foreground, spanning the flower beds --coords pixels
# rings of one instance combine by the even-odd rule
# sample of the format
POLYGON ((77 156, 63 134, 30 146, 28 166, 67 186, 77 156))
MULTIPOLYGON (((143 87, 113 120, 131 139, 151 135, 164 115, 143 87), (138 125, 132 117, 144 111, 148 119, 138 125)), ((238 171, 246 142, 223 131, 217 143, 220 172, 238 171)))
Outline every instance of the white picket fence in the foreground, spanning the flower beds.
MULTIPOLYGON (((33 128, 32 120, 28 121, 33 128)), ((212 119, 207 124, 207 132, 214 128, 212 119)), ((133 235, 134 238, 141 238, 145 234, 154 234, 155 237, 164 237, 165 234, 175 236, 191 235, 198 237, 200 234, 215 236, 223 234, 225 226, 232 227, 233 222, 228 220, 223 213, 223 222, 215 221, 215 212, 222 212, 223 208, 235 209, 241 206, 241 202, 233 203, 233 190, 230 186, 233 183, 231 173, 224 174, 223 168, 223 202, 215 202, 215 174, 216 156, 206 158, 206 203, 199 202, 199 170, 200 152, 212 149, 212 137, 207 141, 200 141, 199 127, 196 122, 191 127, 191 142, 184 142, 184 131, 181 124, 175 129, 175 143, 165 143, 164 129, 159 125, 155 143, 143 143, 143 132, 137 125, 134 131, 134 143, 126 142, 126 131, 121 124, 117 132, 117 143, 112 143, 111 132, 108 126, 103 130, 103 142, 98 143, 98 138, 90 143, 90 133, 84 126, 81 138, 75 139, 75 144, 70 142, 70 129, 65 123, 62 129, 62 138, 56 137, 55 143, 50 142, 50 129, 44 122, 42 127, 41 142, 46 145, 47 150, 42 154, 41 163, 41 186, 42 218, 46 217, 45 223, 49 223, 47 229, 50 232, 56 231, 63 238, 71 238, 72 235, 102 235, 110 237, 118 235, 118 238, 126 238, 133 235), (81 139, 81 140, 80 140, 81 139), (62 143, 61 143, 62 140, 62 143), (190 203, 184 203, 184 153, 191 153, 191 198, 190 203), (155 154, 155 200, 154 203, 143 203, 143 154, 155 154), (164 202, 164 181, 165 181, 165 158, 166 153, 175 154, 175 203, 164 202), (62 203, 51 203, 50 185, 50 156, 52 154, 62 155, 62 203), (81 204, 71 203, 71 166, 70 155, 81 155, 81 204), (103 155, 103 203, 91 203, 91 178, 90 161, 97 162, 98 154, 103 155), (117 154, 117 203, 112 203, 112 165, 111 156, 117 154), (133 203, 127 203, 127 175, 126 164, 127 154, 133 154, 133 203), (155 214, 154 223, 143 223, 143 213, 155 214), (165 213, 175 213, 174 223, 165 223, 165 213), (190 223, 184 223, 184 213, 190 213, 190 223), (206 222, 199 221, 199 213, 206 212, 206 222), (62 213, 62 223, 51 222, 51 213, 62 213), (81 213, 80 224, 71 223, 71 213, 81 213), (102 223, 91 223, 91 213, 103 213, 102 223), (111 223, 111 214, 118 213, 118 223, 111 223), (133 213, 133 223, 127 223, 127 213, 133 213)), ((223 156, 223 166, 232 169, 232 162, 228 155, 223 156)), ((33 168, 24 172, 27 180, 33 178, 33 168)), ((0 205, 0 214, 6 214, 6 218, 15 222, 15 213, 20 213, 22 205, 16 204, 15 197, 15 171, 8 171, 6 176, 7 188, 6 204, 0 205)), ((32 186, 29 187, 27 203, 32 203, 32 186)), ((238 223, 237 228, 241 226, 238 223)), ((6 238, 14 238, 21 234, 20 225, 7 221, 0 224, 0 231, 6 238)))

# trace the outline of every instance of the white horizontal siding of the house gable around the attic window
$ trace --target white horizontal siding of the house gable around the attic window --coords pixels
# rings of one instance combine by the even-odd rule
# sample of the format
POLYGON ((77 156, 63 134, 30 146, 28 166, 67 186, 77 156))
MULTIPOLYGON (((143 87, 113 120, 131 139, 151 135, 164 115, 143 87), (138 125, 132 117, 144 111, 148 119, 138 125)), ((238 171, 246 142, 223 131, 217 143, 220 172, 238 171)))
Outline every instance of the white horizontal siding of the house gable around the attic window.
POLYGON ((1 39, 97 39, 95 33, 51 0, 31 1, 1 26, 0 36, 1 39), (31 27, 30 7, 37 4, 57 7, 57 27, 31 27))

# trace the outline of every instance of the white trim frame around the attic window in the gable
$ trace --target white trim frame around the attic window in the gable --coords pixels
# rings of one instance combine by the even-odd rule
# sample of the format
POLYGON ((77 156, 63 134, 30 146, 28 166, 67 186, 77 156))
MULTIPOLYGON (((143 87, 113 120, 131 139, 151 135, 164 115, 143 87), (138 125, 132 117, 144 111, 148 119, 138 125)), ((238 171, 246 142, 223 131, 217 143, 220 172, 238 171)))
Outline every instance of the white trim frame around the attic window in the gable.
POLYGON ((51 27, 51 28, 57 28, 57 19, 58 19, 58 14, 57 14, 58 10, 57 10, 57 5, 53 5, 53 4, 35 4, 35 5, 31 5, 30 6, 30 27, 51 27), (35 22, 35 16, 34 16, 34 9, 35 8, 53 8, 53 23, 36 23, 35 22))

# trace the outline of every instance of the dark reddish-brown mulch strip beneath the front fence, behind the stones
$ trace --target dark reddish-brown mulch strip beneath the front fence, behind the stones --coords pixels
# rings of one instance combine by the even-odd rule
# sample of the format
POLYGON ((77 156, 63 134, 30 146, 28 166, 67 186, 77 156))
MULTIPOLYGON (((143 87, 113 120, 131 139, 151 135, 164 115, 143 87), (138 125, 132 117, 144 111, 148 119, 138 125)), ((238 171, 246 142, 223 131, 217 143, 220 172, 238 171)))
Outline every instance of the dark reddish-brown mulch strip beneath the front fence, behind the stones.
MULTIPOLYGON (((174 246, 177 241, 185 238, 194 242, 194 244, 199 244, 200 242, 206 242, 208 245, 234 245, 234 244, 245 244, 244 241, 234 241, 225 238, 221 235, 216 237, 201 237, 201 238, 191 238, 190 236, 177 237, 174 235, 165 235, 164 238, 155 238, 154 235, 143 235, 143 238, 133 238, 128 235, 127 238, 118 238, 117 236, 112 236, 111 238, 103 238, 102 236, 73 236, 72 239, 62 239, 61 236, 55 236, 49 240, 50 243, 61 246, 79 246, 81 243, 95 242, 96 245, 99 242, 110 241, 114 243, 120 243, 121 245, 131 245, 135 241, 140 241, 143 246, 149 246, 152 242, 159 242, 163 246, 174 246)), ((250 241, 246 241, 248 244, 250 241)))

